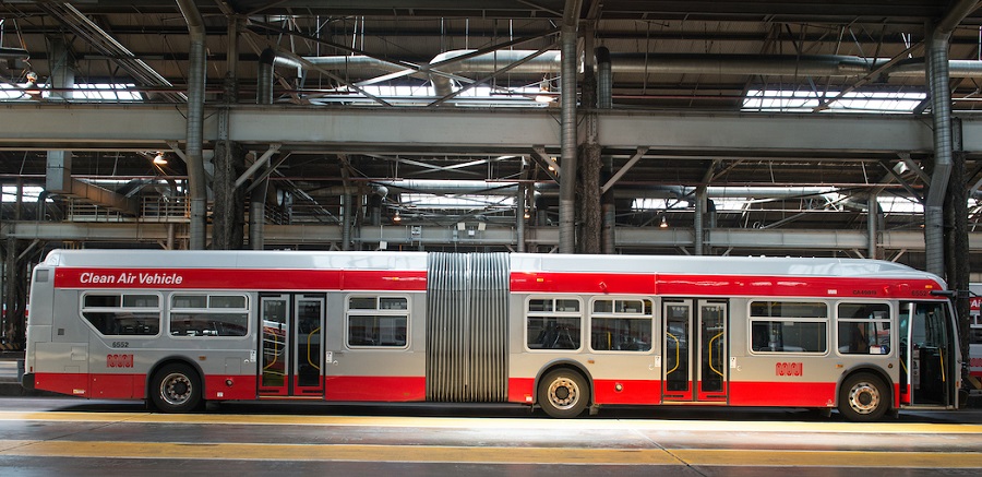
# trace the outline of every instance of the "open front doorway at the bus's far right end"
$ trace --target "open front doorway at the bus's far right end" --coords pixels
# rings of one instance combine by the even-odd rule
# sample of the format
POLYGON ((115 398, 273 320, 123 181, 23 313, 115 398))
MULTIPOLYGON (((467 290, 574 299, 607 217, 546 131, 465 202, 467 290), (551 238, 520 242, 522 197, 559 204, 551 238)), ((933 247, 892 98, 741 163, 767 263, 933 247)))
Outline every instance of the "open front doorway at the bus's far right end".
POLYGON ((956 406, 955 323, 942 301, 900 303, 900 404, 909 407, 956 406))

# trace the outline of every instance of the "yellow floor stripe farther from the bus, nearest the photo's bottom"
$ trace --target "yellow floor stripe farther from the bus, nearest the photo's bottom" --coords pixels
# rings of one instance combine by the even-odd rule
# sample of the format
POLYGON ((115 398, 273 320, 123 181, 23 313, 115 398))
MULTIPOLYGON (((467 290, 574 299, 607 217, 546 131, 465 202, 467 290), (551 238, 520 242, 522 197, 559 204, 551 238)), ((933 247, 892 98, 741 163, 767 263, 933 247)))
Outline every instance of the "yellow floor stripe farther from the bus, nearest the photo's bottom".
POLYGON ((982 453, 0 440, 0 456, 396 463, 982 468, 982 453))

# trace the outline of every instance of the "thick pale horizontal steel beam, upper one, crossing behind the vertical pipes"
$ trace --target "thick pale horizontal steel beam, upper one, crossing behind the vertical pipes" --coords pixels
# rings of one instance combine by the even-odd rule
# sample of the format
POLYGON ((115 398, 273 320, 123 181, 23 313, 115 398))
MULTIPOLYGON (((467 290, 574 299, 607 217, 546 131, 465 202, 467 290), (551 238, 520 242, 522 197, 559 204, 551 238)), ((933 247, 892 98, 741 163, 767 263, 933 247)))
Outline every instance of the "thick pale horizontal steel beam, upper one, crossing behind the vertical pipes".
MULTIPOLYGON (((207 109, 207 108, 206 108, 207 109)), ((218 115, 206 111, 206 146, 218 139, 218 115)), ((646 157, 895 158, 931 154, 930 124, 914 116, 755 115, 600 111, 604 153, 646 157)), ((962 118, 967 154, 982 154, 982 120, 962 118)), ((183 142, 185 120, 166 106, 0 105, 0 148, 148 151, 183 142)), ((240 105, 229 111, 229 139, 280 143, 285 150, 527 154, 559 150, 559 124, 548 109, 301 108, 240 105)))

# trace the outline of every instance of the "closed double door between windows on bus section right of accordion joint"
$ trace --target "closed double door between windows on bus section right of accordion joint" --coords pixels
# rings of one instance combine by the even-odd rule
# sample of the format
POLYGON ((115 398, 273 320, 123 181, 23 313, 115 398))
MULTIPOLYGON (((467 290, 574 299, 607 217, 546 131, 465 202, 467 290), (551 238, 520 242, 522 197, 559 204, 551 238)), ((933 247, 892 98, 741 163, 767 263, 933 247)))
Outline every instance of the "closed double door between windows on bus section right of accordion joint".
POLYGON ((669 299, 662 303, 664 402, 727 400, 727 302, 669 299))

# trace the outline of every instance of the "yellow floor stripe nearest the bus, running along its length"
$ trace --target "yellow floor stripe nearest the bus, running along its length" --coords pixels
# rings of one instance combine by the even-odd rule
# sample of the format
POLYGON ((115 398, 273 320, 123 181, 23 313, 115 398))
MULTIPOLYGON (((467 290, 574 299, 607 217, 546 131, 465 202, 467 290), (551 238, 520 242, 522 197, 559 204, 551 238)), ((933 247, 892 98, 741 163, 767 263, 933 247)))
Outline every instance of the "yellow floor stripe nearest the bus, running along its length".
MULTIPOLYGON (((297 415, 214 415, 214 414, 151 414, 151 413, 24 413, 0 412, 0 421, 63 421, 63 422, 133 422, 193 424, 252 426, 338 426, 338 427, 411 427, 470 428, 475 418, 404 417, 404 416, 297 416, 297 415)), ((711 421, 657 419, 544 419, 544 418, 483 418, 482 429, 573 429, 573 430, 663 430, 711 432, 841 432, 841 433, 932 433, 982 434, 982 425, 919 424, 919 422, 813 422, 813 421, 711 421)))

